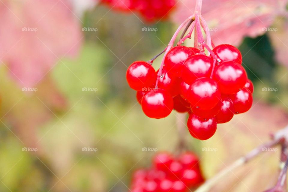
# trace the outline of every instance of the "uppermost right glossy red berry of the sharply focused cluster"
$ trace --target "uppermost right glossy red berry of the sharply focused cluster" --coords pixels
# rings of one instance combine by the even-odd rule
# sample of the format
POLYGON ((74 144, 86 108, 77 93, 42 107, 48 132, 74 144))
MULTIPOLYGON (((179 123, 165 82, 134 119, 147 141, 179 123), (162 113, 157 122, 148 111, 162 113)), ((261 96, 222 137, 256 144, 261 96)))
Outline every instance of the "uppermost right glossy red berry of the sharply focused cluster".
POLYGON ((229 44, 221 44, 213 49, 213 52, 221 61, 234 61, 238 64, 242 63, 241 52, 234 46, 229 44))

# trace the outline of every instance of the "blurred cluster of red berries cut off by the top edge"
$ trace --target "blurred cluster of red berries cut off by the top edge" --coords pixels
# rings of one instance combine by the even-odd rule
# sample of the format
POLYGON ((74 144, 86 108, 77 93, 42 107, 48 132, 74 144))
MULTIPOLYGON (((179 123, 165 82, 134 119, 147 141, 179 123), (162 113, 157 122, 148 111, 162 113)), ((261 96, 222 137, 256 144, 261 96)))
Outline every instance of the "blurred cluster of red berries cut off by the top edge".
POLYGON ((166 18, 176 0, 102 0, 113 9, 140 13, 147 21, 166 18))

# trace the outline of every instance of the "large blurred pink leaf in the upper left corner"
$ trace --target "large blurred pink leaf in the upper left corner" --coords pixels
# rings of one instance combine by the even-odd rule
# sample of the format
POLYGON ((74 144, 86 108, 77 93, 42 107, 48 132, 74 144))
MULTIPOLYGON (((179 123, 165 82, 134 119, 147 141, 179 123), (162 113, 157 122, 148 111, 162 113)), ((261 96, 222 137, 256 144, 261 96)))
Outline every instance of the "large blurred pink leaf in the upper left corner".
POLYGON ((20 85, 38 83, 59 59, 77 53, 79 22, 66 1, 1 1, 0 63, 20 85))

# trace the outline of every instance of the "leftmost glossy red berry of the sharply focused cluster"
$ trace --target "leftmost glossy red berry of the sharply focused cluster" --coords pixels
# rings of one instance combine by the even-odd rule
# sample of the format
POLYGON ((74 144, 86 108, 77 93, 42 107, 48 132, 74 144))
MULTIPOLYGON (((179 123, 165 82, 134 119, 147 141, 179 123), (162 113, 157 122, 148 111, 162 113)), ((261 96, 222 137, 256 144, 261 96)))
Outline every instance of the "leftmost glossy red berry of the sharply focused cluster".
POLYGON ((149 63, 135 61, 128 67, 126 79, 132 89, 142 91, 143 88, 152 88, 157 75, 149 63))

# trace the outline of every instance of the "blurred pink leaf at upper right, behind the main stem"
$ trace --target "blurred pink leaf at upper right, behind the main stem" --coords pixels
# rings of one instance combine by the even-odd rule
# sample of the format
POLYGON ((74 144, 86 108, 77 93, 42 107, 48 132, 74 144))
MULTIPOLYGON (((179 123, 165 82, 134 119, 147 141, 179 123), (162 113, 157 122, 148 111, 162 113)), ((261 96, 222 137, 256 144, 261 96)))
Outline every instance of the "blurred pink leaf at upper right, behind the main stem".
MULTIPOLYGON (((194 12, 195 0, 183 0, 174 13, 182 22, 194 12)), ((244 37, 264 34, 277 16, 286 13, 287 0, 214 0, 203 1, 202 15, 211 28, 214 44, 238 46, 244 37), (264 28, 264 29, 263 29, 264 28)))

